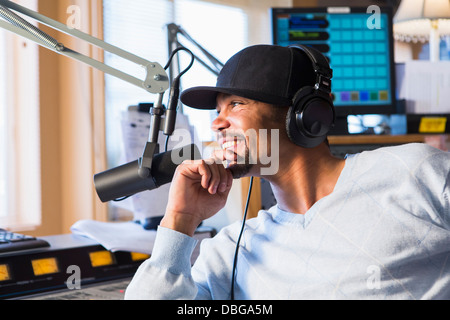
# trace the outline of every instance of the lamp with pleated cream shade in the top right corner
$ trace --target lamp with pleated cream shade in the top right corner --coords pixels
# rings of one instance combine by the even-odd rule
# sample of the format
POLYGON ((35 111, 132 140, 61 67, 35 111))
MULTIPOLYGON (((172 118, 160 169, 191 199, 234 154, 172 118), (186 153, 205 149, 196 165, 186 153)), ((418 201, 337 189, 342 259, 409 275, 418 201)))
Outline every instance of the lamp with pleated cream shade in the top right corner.
POLYGON ((430 60, 439 61, 440 37, 450 35, 449 0, 402 0, 394 17, 395 40, 430 43, 430 60))

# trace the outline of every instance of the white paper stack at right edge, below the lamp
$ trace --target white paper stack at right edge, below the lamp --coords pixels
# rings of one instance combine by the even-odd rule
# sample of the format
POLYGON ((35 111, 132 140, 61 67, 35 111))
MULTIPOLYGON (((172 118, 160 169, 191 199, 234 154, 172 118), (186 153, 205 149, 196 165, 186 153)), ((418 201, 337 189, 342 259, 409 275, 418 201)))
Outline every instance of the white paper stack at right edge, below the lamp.
POLYGON ((404 86, 408 113, 450 113, 450 61, 406 62, 404 86))

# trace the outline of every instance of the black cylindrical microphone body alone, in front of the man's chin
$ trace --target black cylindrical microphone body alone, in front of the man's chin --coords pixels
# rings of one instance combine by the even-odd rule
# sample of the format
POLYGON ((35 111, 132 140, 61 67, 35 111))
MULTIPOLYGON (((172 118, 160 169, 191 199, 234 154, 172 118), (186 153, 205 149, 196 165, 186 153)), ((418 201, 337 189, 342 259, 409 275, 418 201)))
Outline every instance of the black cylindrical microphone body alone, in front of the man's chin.
POLYGON ((178 165, 198 159, 201 155, 195 144, 160 153, 153 157, 148 177, 140 174, 140 160, 136 160, 95 175, 95 189, 102 202, 119 200, 171 182, 178 165))

